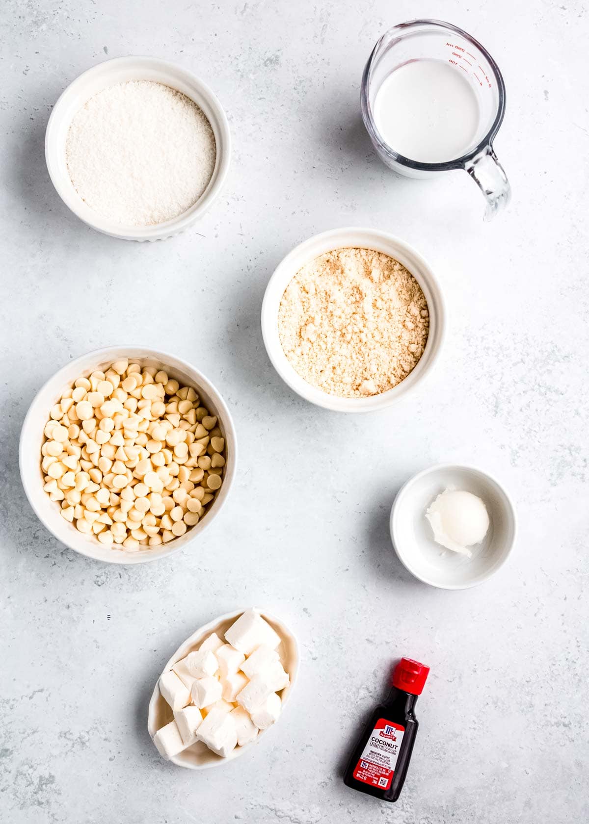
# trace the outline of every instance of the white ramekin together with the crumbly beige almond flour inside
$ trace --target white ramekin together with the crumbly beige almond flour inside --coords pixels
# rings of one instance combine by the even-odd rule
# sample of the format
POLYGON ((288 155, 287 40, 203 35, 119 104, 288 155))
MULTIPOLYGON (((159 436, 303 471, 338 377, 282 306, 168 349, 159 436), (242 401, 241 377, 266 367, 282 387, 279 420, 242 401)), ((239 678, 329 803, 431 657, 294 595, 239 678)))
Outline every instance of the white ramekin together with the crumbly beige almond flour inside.
POLYGON ((280 377, 305 400, 340 412, 383 409, 431 372, 445 309, 431 267, 375 229, 311 237, 266 288, 262 335, 280 377))

